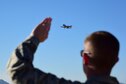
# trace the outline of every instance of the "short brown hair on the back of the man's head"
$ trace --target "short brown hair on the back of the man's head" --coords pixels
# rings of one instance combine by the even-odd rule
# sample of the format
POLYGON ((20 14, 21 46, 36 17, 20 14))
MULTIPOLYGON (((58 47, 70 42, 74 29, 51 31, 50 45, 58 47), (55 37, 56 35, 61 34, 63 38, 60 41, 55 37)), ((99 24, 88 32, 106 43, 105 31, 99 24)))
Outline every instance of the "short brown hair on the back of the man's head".
POLYGON ((85 42, 92 43, 94 51, 93 64, 98 68, 112 68, 118 59, 119 41, 107 31, 97 31, 89 35, 85 42))

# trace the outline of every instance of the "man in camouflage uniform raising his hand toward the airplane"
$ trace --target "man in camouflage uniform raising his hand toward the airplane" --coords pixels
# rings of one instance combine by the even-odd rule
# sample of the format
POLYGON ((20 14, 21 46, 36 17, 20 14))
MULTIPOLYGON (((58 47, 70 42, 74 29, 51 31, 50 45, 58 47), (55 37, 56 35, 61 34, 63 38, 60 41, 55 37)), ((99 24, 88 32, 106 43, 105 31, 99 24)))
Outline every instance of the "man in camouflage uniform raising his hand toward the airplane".
MULTIPOLYGON (((7 69, 14 84, 82 84, 57 78, 32 64, 37 46, 48 37, 51 20, 49 17, 41 22, 13 52, 7 69)), ((116 78, 110 76, 112 67, 118 61, 118 40, 108 32, 98 31, 88 36, 84 44, 81 56, 87 76, 85 84, 118 84, 116 78)))

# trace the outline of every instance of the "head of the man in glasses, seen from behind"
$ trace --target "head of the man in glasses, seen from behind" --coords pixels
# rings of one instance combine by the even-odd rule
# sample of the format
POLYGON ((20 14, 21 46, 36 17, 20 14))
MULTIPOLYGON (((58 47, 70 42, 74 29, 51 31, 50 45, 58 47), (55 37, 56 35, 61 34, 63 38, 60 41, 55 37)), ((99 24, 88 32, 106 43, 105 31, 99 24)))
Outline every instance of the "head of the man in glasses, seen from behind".
POLYGON ((118 61, 119 41, 116 37, 106 31, 97 31, 89 35, 84 44, 82 56, 86 75, 93 72, 109 74, 118 61))

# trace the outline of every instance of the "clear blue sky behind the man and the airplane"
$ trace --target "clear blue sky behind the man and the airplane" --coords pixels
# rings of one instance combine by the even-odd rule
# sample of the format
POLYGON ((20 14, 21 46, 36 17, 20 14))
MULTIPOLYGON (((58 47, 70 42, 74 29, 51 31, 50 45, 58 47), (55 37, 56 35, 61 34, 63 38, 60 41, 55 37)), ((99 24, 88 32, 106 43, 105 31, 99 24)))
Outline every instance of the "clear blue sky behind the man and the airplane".
POLYGON ((6 64, 16 46, 45 17, 52 17, 49 38, 41 43, 34 65, 58 77, 84 82, 80 50, 90 33, 106 30, 120 41, 120 60, 112 75, 126 83, 126 0, 1 0, 0 78, 10 81, 6 64), (73 25, 62 29, 62 24, 73 25))

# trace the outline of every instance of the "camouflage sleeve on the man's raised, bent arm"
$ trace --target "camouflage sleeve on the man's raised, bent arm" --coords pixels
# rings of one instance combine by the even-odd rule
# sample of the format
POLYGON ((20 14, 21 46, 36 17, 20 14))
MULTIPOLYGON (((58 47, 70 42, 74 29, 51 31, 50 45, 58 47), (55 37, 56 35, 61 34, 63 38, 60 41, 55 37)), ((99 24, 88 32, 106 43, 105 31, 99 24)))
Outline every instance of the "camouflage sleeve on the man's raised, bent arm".
POLYGON ((14 84, 80 84, 34 68, 32 62, 38 45, 39 40, 30 37, 13 52, 7 69, 14 84))

